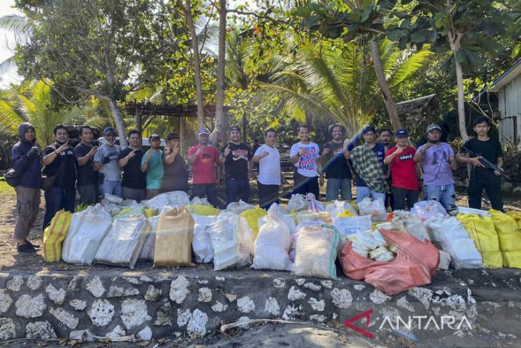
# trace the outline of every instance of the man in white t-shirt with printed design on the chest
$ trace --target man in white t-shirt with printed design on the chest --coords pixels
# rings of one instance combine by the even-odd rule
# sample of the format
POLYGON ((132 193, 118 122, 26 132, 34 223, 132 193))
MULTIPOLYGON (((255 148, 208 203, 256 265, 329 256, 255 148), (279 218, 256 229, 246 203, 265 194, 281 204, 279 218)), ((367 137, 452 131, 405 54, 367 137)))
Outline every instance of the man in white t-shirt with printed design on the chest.
POLYGON ((293 194, 312 193, 318 199, 318 174, 321 169, 317 159, 320 149, 309 139, 309 126, 298 127, 300 141, 291 146, 290 158, 295 166, 293 173, 293 194))

